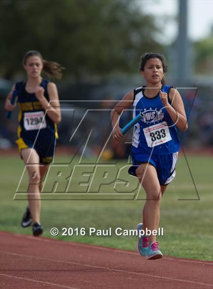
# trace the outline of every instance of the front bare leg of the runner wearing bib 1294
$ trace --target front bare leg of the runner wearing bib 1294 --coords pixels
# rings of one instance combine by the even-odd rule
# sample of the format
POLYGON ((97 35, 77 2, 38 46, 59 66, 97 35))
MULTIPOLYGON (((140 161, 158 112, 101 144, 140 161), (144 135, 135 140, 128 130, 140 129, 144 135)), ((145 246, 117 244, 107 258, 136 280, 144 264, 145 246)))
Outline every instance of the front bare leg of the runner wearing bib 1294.
POLYGON ((24 163, 29 175, 29 185, 27 189, 27 197, 29 202, 29 210, 33 222, 40 222, 41 212, 41 195, 40 195, 40 166, 39 155, 32 148, 26 148, 21 151, 24 163))

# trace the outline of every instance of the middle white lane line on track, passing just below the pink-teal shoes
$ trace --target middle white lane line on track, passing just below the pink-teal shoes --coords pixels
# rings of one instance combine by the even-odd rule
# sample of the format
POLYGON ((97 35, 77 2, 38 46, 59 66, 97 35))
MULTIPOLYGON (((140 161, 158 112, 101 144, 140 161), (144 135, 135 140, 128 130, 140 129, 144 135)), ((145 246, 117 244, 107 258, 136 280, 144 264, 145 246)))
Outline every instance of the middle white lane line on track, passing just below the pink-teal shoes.
POLYGON ((17 256, 24 257, 24 258, 32 258, 32 259, 39 259, 39 260, 60 262, 60 263, 66 263, 66 264, 74 264, 74 265, 80 265, 80 266, 85 266, 85 267, 92 267, 92 268, 104 269, 104 270, 115 271, 115 272, 122 272, 122 273, 128 273, 128 274, 143 275, 143 276, 149 276, 149 277, 160 278, 160 279, 167 279, 167 280, 173 280, 173 281, 180 281, 180 282, 186 282, 186 283, 193 283, 193 284, 205 285, 205 286, 210 286, 210 287, 213 288, 213 285, 212 285, 212 284, 202 283, 202 282, 196 282, 196 281, 189 281, 189 280, 184 280, 184 279, 177 279, 177 278, 173 278, 173 277, 164 277, 164 276, 152 275, 152 274, 147 274, 147 273, 139 273, 139 272, 132 272, 132 271, 121 270, 121 269, 113 269, 113 268, 108 268, 108 267, 100 267, 100 266, 89 265, 89 264, 82 264, 82 263, 71 262, 71 261, 62 261, 62 260, 57 260, 57 259, 49 259, 49 258, 43 258, 43 257, 35 257, 35 256, 24 255, 24 254, 17 254, 17 253, 5 252, 5 251, 0 251, 0 252, 1 252, 1 253, 5 253, 5 254, 10 254, 10 255, 17 255, 17 256))

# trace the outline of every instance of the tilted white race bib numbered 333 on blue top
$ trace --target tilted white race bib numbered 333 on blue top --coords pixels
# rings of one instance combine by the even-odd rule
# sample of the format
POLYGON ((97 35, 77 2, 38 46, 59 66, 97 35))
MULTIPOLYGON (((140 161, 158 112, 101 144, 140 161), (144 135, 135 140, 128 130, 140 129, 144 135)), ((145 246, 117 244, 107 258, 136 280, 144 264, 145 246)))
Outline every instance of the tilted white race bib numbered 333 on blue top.
POLYGON ((147 145, 149 147, 154 147, 171 140, 169 128, 166 121, 145 127, 143 131, 145 134, 147 145))

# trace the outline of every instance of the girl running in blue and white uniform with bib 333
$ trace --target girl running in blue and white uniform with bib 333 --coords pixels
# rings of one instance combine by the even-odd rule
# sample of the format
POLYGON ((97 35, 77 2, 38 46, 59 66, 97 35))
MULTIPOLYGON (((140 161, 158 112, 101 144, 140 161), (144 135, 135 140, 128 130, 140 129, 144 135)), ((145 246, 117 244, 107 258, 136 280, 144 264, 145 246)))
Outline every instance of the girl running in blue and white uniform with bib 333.
MULTIPOLYGON (((167 70, 164 56, 145 53, 141 56, 139 70, 146 86, 127 93, 115 106, 111 119, 113 137, 119 141, 123 138, 119 127, 122 111, 133 106, 133 117, 143 113, 143 118, 134 126, 131 147, 133 166, 129 173, 138 178, 147 194, 143 223, 137 225, 138 231, 143 229, 146 232, 146 228, 151 231, 158 229, 161 197, 175 177, 180 149, 176 127, 186 131, 188 124, 180 93, 166 85, 163 79, 167 70)), ((163 256, 154 235, 138 239, 138 252, 149 260, 163 256)))

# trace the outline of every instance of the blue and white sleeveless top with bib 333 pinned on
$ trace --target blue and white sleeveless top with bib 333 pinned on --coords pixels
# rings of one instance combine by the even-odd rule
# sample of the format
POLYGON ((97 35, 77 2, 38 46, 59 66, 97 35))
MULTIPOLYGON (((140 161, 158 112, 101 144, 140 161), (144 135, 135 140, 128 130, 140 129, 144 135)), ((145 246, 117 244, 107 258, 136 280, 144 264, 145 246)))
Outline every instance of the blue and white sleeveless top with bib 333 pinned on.
MULTIPOLYGON (((163 85, 161 90, 169 94, 170 88, 170 85, 163 85)), ((132 146, 138 153, 163 155, 179 151, 180 140, 176 126, 160 95, 147 98, 145 89, 145 86, 134 89, 133 118, 139 113, 143 113, 143 118, 134 126, 132 146)))

